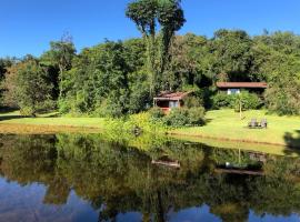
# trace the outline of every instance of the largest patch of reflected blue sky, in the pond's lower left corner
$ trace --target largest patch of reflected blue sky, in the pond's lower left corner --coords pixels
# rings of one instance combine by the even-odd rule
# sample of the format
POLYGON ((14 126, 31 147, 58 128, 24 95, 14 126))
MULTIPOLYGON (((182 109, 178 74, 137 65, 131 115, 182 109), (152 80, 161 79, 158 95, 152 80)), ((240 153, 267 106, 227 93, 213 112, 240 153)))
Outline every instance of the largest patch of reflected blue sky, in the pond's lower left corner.
POLYGON ((0 221, 97 221, 98 212, 74 192, 64 205, 46 205, 46 186, 32 183, 21 186, 0 179, 0 221))

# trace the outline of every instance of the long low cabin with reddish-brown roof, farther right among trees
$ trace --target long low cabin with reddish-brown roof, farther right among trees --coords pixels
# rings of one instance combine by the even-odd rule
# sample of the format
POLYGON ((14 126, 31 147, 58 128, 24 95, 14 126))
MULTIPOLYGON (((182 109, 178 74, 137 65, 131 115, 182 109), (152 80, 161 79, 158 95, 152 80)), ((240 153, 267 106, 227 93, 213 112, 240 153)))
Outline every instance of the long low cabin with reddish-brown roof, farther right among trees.
POLYGON ((239 94, 242 90, 262 94, 268 84, 266 82, 217 82, 217 88, 227 94, 239 94))

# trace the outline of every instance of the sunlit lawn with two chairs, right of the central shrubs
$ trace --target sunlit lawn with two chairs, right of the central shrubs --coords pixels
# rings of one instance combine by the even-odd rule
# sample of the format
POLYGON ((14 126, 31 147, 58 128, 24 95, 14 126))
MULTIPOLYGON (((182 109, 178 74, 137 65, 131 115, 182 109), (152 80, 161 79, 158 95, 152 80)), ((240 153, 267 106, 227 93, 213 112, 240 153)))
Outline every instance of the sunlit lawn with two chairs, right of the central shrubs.
POLYGON ((207 112, 207 124, 171 131, 174 134, 218 138, 246 142, 272 143, 300 148, 300 117, 279 117, 266 111, 243 112, 243 120, 233 110, 214 110, 207 112), (268 120, 268 129, 248 129, 252 118, 268 120))

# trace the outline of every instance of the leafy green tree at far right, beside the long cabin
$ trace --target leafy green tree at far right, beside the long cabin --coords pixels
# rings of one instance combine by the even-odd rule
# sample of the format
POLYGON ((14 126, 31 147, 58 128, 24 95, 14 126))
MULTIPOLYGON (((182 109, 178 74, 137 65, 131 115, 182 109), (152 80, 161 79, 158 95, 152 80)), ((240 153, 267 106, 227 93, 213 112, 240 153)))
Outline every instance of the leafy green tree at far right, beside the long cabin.
POLYGON ((290 32, 254 38, 252 73, 267 81, 267 108, 279 114, 299 114, 300 37, 290 32))

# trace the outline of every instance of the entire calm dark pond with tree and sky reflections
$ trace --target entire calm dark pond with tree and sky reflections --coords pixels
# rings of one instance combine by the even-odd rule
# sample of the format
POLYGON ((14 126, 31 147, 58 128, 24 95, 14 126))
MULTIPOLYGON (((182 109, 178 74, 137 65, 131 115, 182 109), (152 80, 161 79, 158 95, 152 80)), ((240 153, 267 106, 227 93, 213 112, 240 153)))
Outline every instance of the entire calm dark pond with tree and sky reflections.
POLYGON ((298 159, 153 137, 0 137, 0 221, 273 222, 299 212, 298 159))

